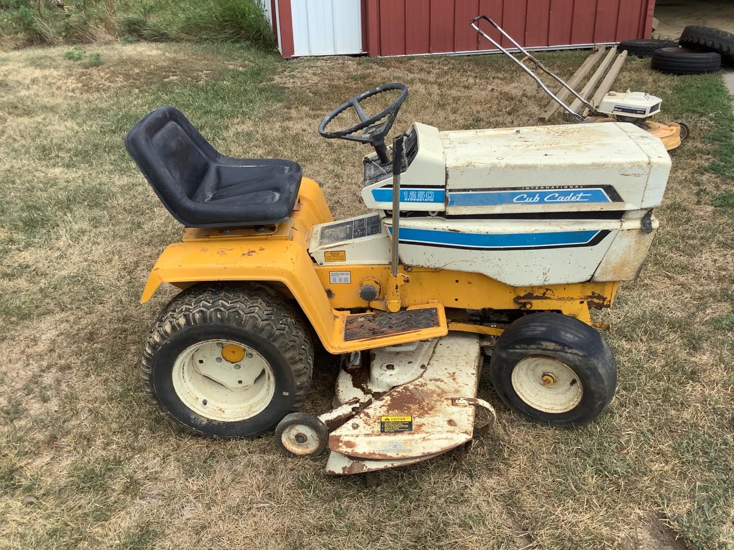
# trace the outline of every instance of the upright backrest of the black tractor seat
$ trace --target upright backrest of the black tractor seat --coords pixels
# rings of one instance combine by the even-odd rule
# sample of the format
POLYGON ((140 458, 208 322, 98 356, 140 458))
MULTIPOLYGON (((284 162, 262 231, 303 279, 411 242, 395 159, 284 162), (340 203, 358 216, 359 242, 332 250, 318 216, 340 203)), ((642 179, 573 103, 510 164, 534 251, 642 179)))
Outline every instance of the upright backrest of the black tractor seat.
POLYGON ((219 156, 171 106, 143 117, 126 136, 125 147, 169 210, 192 198, 211 161, 219 156))

